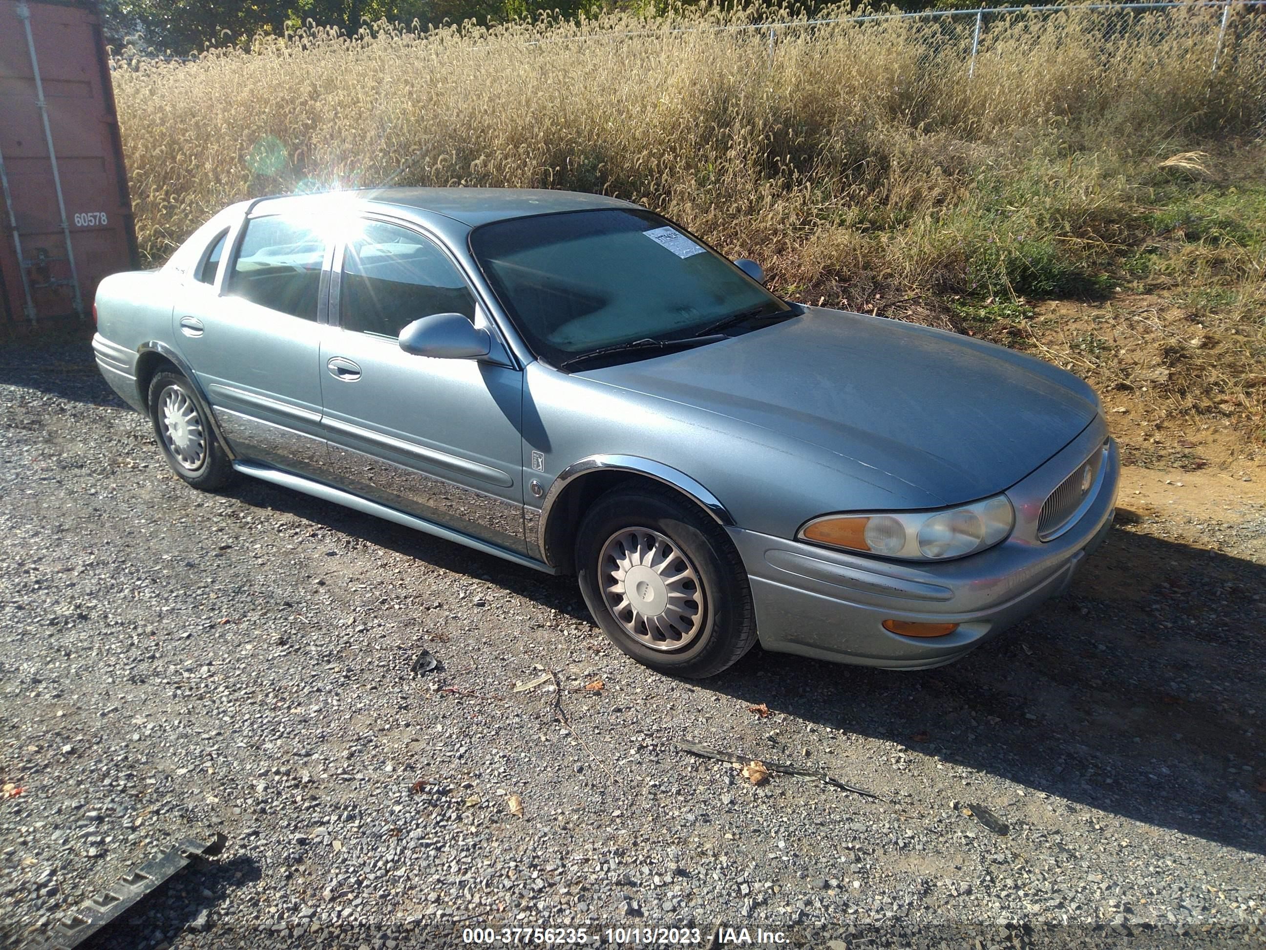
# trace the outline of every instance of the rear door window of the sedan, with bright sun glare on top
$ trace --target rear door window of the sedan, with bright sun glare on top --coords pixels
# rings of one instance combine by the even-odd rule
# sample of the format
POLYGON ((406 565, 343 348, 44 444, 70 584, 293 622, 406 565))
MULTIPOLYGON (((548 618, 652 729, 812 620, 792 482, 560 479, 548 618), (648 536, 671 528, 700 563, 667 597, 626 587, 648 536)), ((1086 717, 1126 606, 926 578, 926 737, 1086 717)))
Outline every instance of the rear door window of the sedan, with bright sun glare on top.
POLYGON ((316 319, 325 241, 303 220, 276 215, 247 222, 228 293, 270 310, 316 319))

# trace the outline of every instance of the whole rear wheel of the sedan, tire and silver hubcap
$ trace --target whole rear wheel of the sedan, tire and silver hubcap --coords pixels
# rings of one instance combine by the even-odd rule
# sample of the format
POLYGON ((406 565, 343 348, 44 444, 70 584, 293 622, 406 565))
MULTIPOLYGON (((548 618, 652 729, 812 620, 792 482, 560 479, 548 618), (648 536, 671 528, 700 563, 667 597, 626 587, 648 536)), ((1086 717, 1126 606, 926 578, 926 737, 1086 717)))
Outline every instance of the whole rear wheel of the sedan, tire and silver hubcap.
POLYGON ((167 465, 203 491, 223 488, 233 464, 210 427, 209 410, 179 372, 160 372, 149 381, 149 422, 167 465))

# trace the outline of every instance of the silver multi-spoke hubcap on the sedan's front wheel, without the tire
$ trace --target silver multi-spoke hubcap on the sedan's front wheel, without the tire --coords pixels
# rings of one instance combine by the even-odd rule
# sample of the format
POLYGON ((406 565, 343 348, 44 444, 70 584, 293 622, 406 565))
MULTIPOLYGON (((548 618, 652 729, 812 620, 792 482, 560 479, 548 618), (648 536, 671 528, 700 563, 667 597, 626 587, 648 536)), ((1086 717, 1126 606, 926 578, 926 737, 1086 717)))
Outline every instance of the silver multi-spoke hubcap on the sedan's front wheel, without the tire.
POLYGON ((611 535, 598 559, 598 579, 611 616, 652 650, 680 650, 703 630, 708 602, 699 574, 657 531, 611 535))

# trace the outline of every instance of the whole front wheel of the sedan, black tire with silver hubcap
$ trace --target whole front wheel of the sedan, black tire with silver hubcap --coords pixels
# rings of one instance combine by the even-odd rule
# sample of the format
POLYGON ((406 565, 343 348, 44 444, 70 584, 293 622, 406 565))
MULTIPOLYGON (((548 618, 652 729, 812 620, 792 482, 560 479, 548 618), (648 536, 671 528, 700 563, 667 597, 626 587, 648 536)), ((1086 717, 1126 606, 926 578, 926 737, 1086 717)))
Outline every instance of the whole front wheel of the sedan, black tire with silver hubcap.
POLYGON ((715 676, 756 645, 752 590, 738 551, 715 522, 670 489, 600 497, 576 533, 576 566, 598 626, 652 670, 715 676))

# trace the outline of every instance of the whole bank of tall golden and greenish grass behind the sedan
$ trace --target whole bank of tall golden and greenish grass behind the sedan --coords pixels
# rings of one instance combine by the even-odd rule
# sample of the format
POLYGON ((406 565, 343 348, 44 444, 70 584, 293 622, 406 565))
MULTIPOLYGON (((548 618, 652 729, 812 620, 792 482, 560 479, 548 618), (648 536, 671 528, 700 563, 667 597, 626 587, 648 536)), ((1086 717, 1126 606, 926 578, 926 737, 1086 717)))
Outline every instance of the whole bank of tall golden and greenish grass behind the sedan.
POLYGON ((311 28, 114 82, 149 260, 261 194, 563 187, 661 210, 796 299, 960 327, 1123 270, 1195 281, 1251 326, 1237 360, 1266 360, 1266 16, 1233 20, 1214 71, 1219 14, 994 18, 970 76, 970 19, 789 16, 771 57, 730 29, 755 14, 704 9, 311 28), (1206 205, 1225 227, 1191 224, 1206 205))

